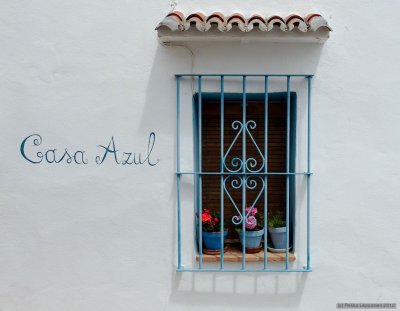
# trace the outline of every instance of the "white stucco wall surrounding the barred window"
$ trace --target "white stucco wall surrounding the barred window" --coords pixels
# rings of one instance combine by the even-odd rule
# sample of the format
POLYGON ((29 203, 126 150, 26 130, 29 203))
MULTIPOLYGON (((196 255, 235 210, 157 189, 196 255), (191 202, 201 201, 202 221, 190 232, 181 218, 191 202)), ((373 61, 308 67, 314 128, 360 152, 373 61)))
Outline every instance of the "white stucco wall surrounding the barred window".
MULTIPOLYGON (((177 9, 320 12, 324 46, 194 46, 195 72, 315 73, 309 274, 179 274, 175 73, 161 47, 168 1, 0 3, 0 310, 334 310, 400 303, 397 1, 181 0, 177 9), (98 145, 150 167, 94 161, 98 145), (32 164, 22 140, 85 150, 87 165, 32 164)), ((31 149, 34 150, 34 149, 31 149)), ((110 161, 108 161, 110 160, 110 161)), ((300 229, 304 232, 303 229, 300 229)))

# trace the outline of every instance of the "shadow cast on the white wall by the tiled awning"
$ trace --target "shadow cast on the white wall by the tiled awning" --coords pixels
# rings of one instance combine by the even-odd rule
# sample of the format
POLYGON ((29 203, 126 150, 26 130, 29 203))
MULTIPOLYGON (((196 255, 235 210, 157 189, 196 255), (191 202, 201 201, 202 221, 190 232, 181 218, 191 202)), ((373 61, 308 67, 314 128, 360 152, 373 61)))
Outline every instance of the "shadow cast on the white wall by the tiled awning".
MULTIPOLYGON (((318 43, 192 44, 194 73, 313 74, 323 45, 318 43)), ((175 74, 190 73, 191 55, 183 47, 163 47, 156 53, 147 84, 140 128, 155 124, 160 134, 175 134, 175 74)))

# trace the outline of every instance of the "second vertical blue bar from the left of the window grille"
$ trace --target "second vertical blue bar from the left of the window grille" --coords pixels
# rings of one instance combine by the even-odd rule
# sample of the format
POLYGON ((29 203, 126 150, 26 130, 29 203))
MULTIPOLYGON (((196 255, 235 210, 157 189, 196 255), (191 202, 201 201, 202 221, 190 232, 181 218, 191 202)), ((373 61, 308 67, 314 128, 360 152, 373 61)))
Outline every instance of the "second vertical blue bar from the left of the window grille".
MULTIPOLYGON (((198 76, 198 88, 199 88, 199 104, 198 104, 198 128, 199 128, 199 141, 198 141, 198 153, 199 153, 199 173, 202 172, 202 159, 201 159, 201 148, 202 148, 202 98, 201 98, 201 76, 198 76)), ((203 268, 203 203, 202 203, 202 175, 198 175, 199 178, 199 269, 203 268)))

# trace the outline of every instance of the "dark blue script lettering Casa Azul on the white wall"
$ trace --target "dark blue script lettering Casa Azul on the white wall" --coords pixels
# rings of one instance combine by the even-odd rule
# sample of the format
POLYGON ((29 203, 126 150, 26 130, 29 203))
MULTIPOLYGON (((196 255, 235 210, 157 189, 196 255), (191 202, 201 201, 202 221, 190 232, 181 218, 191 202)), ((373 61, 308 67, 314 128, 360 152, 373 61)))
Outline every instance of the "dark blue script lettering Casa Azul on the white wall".
POLYGON ((42 148, 43 138, 39 134, 25 137, 20 146, 21 156, 32 164, 78 164, 87 165, 91 162, 101 165, 112 162, 120 165, 149 165, 155 166, 160 161, 152 156, 156 142, 156 134, 151 132, 147 140, 146 152, 122 151, 117 149, 114 136, 105 145, 97 145, 93 158, 86 150, 70 150, 68 148, 42 148), (92 159, 92 161, 91 161, 92 159))

